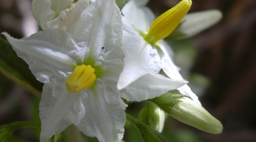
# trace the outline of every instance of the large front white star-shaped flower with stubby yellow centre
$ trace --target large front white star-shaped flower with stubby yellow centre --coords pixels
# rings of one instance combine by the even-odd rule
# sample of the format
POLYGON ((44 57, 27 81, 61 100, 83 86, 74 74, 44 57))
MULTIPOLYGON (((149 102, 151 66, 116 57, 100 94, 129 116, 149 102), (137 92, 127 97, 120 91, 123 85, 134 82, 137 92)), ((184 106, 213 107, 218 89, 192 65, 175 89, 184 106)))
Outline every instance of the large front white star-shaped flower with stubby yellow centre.
POLYGON ((187 83, 147 74, 117 90, 124 53, 121 12, 114 0, 91 3, 69 32, 42 31, 20 40, 3 34, 35 77, 45 83, 39 105, 41 141, 72 123, 101 142, 120 141, 127 107, 121 97, 146 100, 187 83))

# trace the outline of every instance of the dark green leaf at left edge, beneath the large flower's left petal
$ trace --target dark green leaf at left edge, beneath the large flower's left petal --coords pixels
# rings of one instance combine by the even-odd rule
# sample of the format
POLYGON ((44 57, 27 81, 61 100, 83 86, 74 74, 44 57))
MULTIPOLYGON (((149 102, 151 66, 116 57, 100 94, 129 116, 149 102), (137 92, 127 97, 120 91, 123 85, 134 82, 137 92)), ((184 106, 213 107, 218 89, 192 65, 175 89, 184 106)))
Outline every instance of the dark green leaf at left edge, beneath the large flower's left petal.
POLYGON ((27 91, 40 96, 43 83, 36 80, 29 65, 19 58, 10 43, 0 38, 0 71, 27 91))

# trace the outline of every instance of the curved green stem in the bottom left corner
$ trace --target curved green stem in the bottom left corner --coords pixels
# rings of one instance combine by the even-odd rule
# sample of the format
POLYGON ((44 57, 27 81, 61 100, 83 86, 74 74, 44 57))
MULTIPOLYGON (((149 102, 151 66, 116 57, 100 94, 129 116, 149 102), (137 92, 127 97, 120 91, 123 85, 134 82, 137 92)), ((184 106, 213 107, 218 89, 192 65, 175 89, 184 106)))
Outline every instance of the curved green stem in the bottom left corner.
POLYGON ((2 125, 0 127, 0 142, 7 142, 9 138, 12 137, 14 131, 20 128, 26 127, 40 127, 41 122, 39 121, 21 121, 13 122, 7 125, 2 125))

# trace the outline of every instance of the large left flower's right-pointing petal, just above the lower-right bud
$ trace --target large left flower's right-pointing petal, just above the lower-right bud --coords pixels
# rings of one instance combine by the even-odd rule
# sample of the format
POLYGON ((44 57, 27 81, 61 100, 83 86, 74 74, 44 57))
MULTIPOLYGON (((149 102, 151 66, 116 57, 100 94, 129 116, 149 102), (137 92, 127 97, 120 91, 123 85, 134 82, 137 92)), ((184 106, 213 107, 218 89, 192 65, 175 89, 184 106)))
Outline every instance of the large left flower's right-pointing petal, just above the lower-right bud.
POLYGON ((139 102, 160 96, 186 83, 188 82, 185 80, 174 80, 156 73, 147 74, 121 90, 121 97, 139 102))

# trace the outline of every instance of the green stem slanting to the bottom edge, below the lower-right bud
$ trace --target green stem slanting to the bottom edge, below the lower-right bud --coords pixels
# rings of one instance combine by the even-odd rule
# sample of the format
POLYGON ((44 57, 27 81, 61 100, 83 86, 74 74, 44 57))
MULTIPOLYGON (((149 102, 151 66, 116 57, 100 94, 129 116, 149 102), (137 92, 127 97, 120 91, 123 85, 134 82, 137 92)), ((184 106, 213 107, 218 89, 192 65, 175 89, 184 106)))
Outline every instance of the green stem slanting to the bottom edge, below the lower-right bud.
POLYGON ((126 119, 133 123, 140 131, 140 134, 145 142, 167 142, 166 138, 163 137, 158 131, 139 122, 137 119, 133 118, 131 115, 126 114, 126 119))

